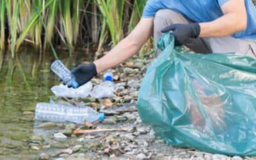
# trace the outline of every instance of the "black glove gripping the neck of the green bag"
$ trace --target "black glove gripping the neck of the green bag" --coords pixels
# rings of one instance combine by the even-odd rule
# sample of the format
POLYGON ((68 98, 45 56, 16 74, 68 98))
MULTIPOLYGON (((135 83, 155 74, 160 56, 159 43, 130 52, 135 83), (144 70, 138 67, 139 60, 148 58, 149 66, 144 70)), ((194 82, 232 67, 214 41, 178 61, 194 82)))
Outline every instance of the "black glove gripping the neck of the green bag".
POLYGON ((200 26, 198 23, 191 24, 172 24, 162 29, 162 32, 172 31, 175 38, 175 46, 186 44, 190 38, 198 38, 200 35, 200 26))

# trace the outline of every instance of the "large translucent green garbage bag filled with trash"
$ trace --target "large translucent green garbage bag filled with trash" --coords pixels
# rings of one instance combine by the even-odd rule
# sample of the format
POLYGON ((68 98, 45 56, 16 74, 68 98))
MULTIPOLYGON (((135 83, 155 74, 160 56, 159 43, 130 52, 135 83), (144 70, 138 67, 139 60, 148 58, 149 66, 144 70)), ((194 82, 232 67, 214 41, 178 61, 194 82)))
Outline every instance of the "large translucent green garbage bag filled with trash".
POLYGON ((256 61, 236 53, 163 52, 141 83, 136 106, 141 120, 164 141, 229 156, 256 155, 256 61))

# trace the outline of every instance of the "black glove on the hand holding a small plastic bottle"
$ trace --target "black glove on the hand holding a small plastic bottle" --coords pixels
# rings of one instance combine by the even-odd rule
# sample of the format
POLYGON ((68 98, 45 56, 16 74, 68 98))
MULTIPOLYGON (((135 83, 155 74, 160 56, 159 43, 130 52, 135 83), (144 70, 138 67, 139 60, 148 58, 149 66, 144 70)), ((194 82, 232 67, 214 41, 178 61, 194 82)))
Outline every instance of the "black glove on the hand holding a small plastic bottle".
MULTIPOLYGON (((83 85, 90 81, 94 76, 97 76, 97 70, 94 63, 90 65, 79 65, 71 70, 72 74, 76 77, 78 86, 83 85)), ((70 87, 70 86, 68 86, 70 87)))

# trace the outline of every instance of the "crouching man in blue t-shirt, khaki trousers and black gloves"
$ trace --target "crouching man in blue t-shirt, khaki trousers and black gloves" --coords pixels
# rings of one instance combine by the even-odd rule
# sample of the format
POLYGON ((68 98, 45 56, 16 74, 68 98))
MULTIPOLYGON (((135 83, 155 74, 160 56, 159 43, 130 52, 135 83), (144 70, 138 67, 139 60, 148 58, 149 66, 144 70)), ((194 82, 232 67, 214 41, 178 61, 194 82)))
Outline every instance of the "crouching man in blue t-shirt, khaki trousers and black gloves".
MULTIPOLYGON (((252 0, 148 0, 143 17, 106 56, 72 70, 79 85, 140 51, 152 36, 171 31, 175 45, 195 52, 239 52, 256 58, 256 9, 252 0)), ((159 55, 159 51, 156 53, 159 55)))

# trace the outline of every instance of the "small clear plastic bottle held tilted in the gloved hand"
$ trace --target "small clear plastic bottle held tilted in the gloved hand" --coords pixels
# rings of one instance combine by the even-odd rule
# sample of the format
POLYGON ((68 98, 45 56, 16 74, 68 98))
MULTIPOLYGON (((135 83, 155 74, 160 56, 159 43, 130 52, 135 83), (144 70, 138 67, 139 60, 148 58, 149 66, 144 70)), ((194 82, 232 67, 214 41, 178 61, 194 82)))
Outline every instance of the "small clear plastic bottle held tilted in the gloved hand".
POLYGON ((51 70, 54 72, 63 83, 67 84, 68 86, 72 86, 72 88, 77 88, 78 83, 76 81, 76 77, 68 70, 67 67, 60 61, 56 60, 51 65, 51 70))

